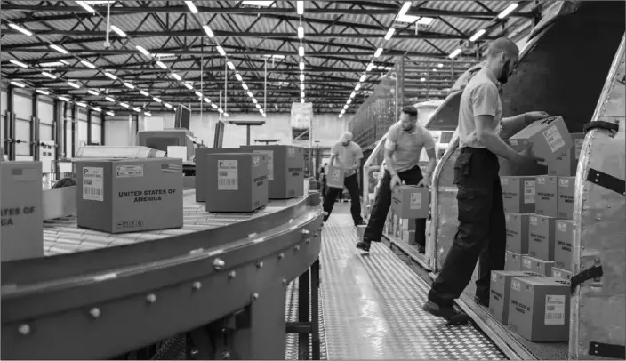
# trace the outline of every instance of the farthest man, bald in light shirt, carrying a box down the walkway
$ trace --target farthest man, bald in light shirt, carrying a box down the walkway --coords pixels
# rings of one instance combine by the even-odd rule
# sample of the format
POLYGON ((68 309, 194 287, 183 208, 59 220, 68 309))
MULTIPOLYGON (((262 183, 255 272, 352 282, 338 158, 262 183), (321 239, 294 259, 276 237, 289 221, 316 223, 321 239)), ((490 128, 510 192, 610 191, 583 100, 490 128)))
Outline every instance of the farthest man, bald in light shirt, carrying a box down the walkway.
MULTIPOLYGON (((330 164, 333 166, 341 166, 345 171, 343 184, 348 189, 350 195, 350 213, 352 213, 352 221, 358 226, 364 224, 361 217, 361 198, 358 191, 357 169, 361 165, 363 158, 363 150, 357 143, 352 141, 351 132, 343 132, 341 138, 331 148, 330 164)), ((328 220, 333 212, 334 202, 343 192, 343 188, 334 188, 328 186, 326 197, 324 198, 324 221, 328 220)))

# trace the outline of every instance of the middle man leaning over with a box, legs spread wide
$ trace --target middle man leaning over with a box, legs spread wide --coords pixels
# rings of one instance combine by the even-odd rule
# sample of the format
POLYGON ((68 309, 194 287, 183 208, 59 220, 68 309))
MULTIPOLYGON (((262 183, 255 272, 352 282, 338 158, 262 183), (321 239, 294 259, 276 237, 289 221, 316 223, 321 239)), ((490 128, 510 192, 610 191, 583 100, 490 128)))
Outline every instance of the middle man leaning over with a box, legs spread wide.
MULTIPOLYGON (((435 169, 435 140, 430 132, 417 123, 417 108, 408 106, 402 109, 400 121, 389 127, 385 140, 385 173, 381 188, 373 202, 372 214, 365 228, 363 240, 357 248, 370 251, 372 242, 381 242, 382 228, 391 206, 391 191, 403 181, 409 185, 428 187, 430 176, 435 169), (429 165, 423 177, 418 163, 421 149, 426 149, 429 165)), ((426 219, 415 220, 415 239, 421 253, 424 252, 426 219)))

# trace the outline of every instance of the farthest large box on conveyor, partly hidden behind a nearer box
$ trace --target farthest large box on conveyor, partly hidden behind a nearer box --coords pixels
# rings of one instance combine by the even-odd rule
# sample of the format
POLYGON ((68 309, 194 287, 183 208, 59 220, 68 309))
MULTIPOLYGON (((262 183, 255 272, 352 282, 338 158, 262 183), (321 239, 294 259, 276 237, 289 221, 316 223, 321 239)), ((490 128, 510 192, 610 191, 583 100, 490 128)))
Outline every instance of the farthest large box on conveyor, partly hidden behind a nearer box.
MULTIPOLYGON (((242 146, 244 151, 268 156, 268 197, 287 199, 304 195, 304 149, 286 145, 242 146)), ((341 182, 342 183, 342 182, 341 182)))

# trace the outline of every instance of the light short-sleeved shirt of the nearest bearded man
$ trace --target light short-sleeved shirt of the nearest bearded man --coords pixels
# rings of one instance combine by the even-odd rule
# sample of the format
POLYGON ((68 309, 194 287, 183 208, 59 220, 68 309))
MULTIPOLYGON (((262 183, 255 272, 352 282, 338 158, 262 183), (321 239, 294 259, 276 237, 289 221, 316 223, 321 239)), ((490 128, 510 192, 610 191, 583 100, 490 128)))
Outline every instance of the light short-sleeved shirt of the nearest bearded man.
POLYGON ((500 134, 502 125, 502 103, 498 92, 498 81, 488 68, 482 68, 472 77, 463 93, 459 105, 459 134, 461 148, 485 148, 478 141, 475 116, 493 116, 494 121, 487 130, 500 134))

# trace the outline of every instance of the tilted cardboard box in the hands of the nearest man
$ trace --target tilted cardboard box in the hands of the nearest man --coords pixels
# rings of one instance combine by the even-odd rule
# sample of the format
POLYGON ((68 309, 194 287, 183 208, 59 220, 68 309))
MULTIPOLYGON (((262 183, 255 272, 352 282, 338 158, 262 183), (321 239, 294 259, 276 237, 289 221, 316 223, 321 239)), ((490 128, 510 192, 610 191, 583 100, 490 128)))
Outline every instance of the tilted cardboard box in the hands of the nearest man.
POLYGON ((544 159, 547 164, 574 145, 561 116, 551 116, 528 125, 510 137, 509 143, 518 151, 532 144, 534 156, 544 159))

